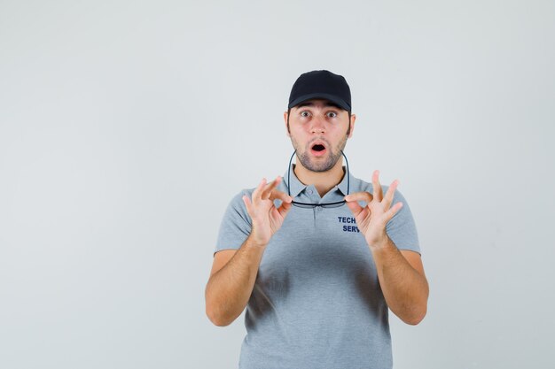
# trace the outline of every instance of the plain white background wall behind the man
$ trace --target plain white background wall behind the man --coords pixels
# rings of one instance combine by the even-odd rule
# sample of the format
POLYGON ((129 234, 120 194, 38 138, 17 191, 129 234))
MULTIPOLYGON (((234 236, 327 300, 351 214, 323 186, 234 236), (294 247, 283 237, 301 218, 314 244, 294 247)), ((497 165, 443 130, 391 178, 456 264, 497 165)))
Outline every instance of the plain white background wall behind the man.
POLYGON ((552 1, 0 1, 0 367, 231 368, 223 211, 344 75, 351 171, 401 181, 431 295, 396 368, 551 368, 552 1))

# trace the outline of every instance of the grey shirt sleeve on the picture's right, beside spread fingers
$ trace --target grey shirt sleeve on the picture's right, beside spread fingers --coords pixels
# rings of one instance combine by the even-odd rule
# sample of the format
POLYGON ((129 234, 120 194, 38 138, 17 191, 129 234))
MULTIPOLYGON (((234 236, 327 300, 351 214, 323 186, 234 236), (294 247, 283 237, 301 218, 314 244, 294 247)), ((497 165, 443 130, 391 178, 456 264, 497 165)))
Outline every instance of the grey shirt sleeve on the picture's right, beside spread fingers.
MULTIPOLYGON (((384 186, 383 193, 385 194, 386 192, 387 188, 384 186)), ((414 219, 412 218, 412 213, 410 212, 409 204, 407 204, 401 192, 395 190, 395 196, 393 196, 393 203, 391 206, 399 202, 403 203, 403 207, 400 211, 397 211, 389 222, 387 222, 387 235, 391 238, 391 241, 395 243, 397 249, 416 251, 420 254, 418 233, 414 219)))

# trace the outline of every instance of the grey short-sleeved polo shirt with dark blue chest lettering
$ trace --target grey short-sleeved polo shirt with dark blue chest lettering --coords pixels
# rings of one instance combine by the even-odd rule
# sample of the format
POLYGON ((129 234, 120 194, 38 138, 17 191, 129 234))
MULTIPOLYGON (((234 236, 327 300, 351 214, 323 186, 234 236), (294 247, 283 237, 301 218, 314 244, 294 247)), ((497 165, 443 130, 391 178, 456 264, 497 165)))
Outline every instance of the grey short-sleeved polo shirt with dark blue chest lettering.
MULTIPOLYGON (((350 193, 373 192, 371 183, 349 176, 350 193)), ((287 173, 278 188, 287 193, 287 173)), ((332 203, 347 195, 347 176, 323 197, 291 171, 291 196, 303 203, 332 203)), ((387 186, 382 186, 384 194, 387 186)), ((215 251, 238 249, 251 232, 241 197, 231 200, 215 251)), ((387 223, 400 250, 420 252, 410 208, 387 223)), ((278 202, 277 202, 278 204, 278 202)), ((360 203, 363 205, 363 203, 360 203)), ((292 206, 270 240, 246 307, 246 337, 239 368, 389 368, 393 365, 387 304, 371 251, 347 205, 292 206)))

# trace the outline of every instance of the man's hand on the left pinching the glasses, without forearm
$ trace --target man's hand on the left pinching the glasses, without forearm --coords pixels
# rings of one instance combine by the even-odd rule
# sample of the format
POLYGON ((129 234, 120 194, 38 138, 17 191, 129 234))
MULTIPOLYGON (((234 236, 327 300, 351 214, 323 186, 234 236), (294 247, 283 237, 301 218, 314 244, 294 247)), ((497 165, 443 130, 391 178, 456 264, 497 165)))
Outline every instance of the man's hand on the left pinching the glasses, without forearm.
POLYGON ((266 179, 262 179, 258 187, 254 189, 252 200, 246 195, 243 196, 246 211, 253 220, 251 239, 260 247, 265 247, 270 242, 271 236, 281 227, 287 212, 291 209, 293 198, 276 189, 280 181, 281 177, 277 177, 270 183, 266 183, 266 179), (276 199, 282 201, 279 208, 274 205, 276 199))

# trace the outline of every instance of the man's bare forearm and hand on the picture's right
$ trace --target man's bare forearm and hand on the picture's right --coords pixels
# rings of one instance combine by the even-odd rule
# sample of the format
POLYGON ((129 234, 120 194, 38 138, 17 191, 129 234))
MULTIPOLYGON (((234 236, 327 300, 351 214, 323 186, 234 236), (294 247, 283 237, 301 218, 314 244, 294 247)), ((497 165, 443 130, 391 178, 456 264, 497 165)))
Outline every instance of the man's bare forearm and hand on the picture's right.
POLYGON ((387 305, 405 323, 416 325, 426 315, 429 294, 422 260, 416 252, 398 250, 386 232, 387 222, 403 207, 402 203, 391 206, 398 181, 383 196, 376 171, 372 185, 373 196, 368 192, 346 196, 348 207, 371 250, 387 305), (367 205, 362 207, 358 201, 367 205))

